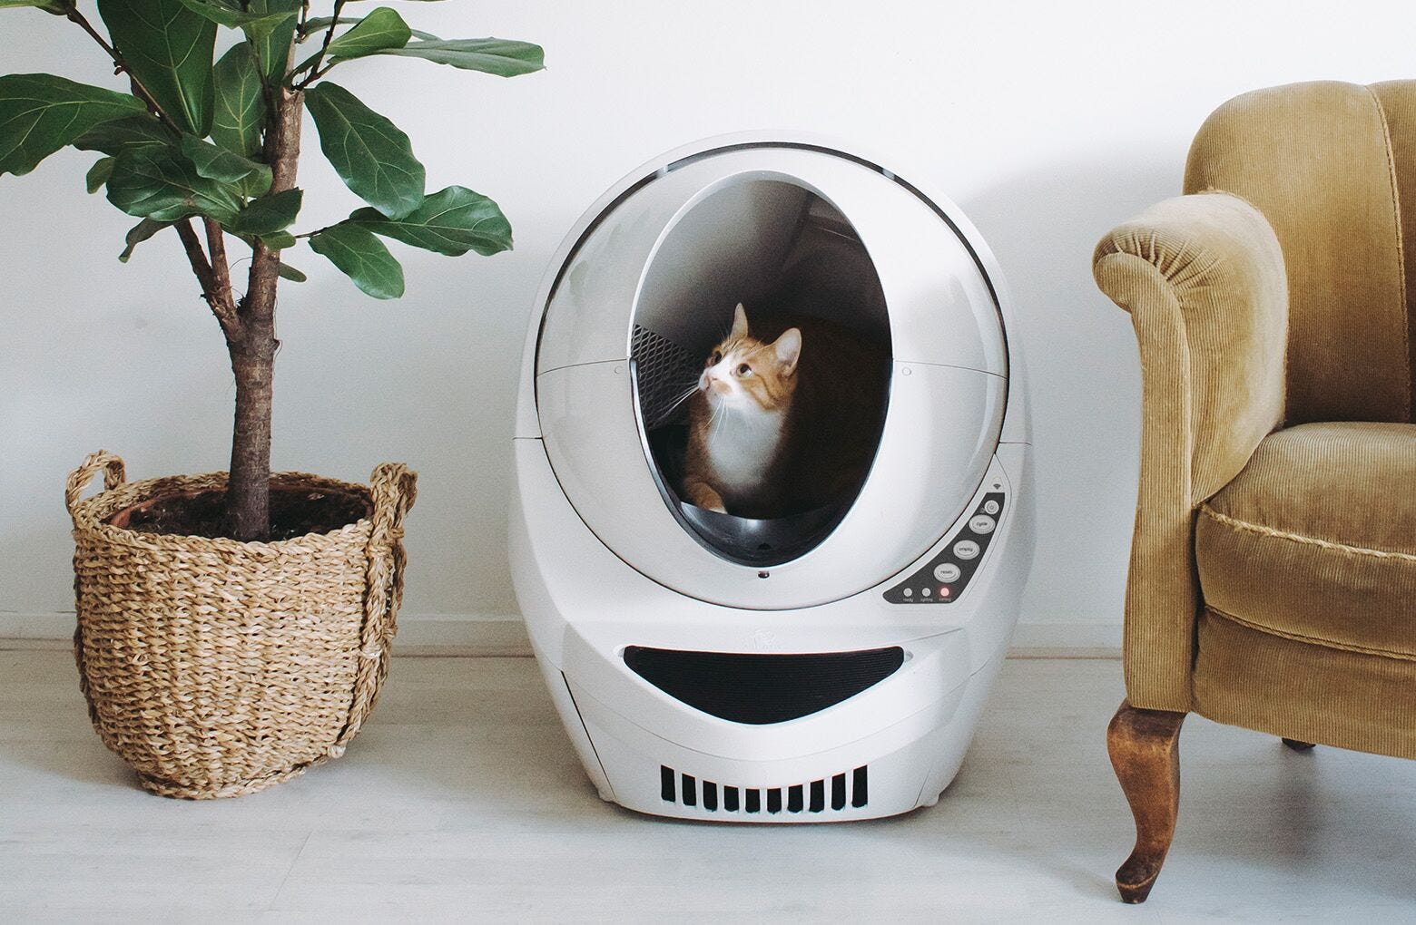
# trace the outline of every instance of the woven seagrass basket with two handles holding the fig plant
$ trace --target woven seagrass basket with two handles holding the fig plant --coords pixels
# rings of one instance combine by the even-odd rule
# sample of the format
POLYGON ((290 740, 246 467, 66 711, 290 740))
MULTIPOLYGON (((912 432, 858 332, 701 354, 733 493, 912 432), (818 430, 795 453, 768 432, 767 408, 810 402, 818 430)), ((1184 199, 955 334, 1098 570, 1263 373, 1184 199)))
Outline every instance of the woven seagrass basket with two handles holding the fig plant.
POLYGON ((344 754, 388 673, 416 474, 385 462, 367 487, 278 474, 272 489, 354 495, 370 513, 270 543, 115 526, 135 505, 227 485, 225 472, 123 478, 120 458, 93 453, 65 491, 74 655, 103 743, 146 789, 187 799, 252 793, 344 754), (105 491, 81 499, 99 472, 105 491))

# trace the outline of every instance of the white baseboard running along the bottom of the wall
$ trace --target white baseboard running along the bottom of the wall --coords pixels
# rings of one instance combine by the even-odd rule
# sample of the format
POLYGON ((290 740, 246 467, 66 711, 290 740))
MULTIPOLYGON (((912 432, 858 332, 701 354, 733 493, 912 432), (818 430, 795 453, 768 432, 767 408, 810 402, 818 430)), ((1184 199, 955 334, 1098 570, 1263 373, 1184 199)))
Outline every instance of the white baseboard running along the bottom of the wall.
MULTIPOLYGON (((74 612, 0 611, 0 648, 58 649, 74 636, 74 612)), ((528 656, 531 641, 517 614, 404 614, 399 655, 528 656)), ((1010 658, 1120 658, 1119 622, 1066 619, 1020 622, 1010 658)))

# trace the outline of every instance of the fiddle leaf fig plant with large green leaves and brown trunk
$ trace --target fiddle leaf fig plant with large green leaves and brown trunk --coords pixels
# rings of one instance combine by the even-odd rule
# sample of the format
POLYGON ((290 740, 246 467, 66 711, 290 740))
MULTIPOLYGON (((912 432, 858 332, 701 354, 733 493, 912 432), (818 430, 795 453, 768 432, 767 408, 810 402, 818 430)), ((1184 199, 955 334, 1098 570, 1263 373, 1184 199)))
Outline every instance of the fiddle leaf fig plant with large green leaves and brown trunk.
POLYGON ((74 23, 126 78, 127 92, 116 92, 51 74, 0 76, 0 174, 27 174, 68 146, 95 151, 89 192, 105 190, 137 219, 119 260, 167 229, 181 240, 236 380, 227 533, 238 540, 270 529, 276 287, 306 279, 285 263, 287 252, 304 240, 368 296, 396 298, 404 270, 384 239, 447 256, 511 249, 496 202, 466 187, 429 192, 408 136, 324 78, 375 55, 517 76, 544 66, 541 48, 443 40, 391 7, 343 16, 346 4, 331 0, 329 16, 312 17, 310 0, 96 0, 105 35, 79 0, 0 0, 74 23), (324 157, 365 205, 296 232, 306 112, 324 157), (244 284, 228 246, 249 250, 244 284))

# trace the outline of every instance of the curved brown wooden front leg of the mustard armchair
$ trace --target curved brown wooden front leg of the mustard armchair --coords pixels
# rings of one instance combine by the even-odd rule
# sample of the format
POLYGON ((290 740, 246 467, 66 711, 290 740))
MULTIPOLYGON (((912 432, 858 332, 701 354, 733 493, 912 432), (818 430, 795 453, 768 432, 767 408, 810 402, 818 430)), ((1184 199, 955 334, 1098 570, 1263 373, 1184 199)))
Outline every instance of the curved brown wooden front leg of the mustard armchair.
POLYGON ((1140 710, 1121 700, 1106 730, 1116 779, 1136 816, 1136 847, 1116 871, 1116 888, 1124 902, 1146 901, 1175 836, 1184 721, 1184 713, 1140 710))

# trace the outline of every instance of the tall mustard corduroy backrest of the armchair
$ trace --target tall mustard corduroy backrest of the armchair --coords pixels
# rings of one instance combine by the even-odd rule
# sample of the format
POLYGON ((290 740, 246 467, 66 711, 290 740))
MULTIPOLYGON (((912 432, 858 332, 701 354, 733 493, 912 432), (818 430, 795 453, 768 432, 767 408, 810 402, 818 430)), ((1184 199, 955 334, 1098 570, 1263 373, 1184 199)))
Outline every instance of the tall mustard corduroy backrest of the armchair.
POLYGON ((1185 192, 1206 190, 1252 202, 1283 246, 1286 421, 1413 420, 1416 81, 1229 100, 1185 164, 1185 192))

